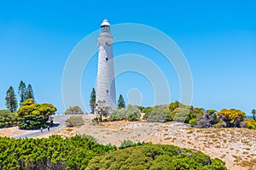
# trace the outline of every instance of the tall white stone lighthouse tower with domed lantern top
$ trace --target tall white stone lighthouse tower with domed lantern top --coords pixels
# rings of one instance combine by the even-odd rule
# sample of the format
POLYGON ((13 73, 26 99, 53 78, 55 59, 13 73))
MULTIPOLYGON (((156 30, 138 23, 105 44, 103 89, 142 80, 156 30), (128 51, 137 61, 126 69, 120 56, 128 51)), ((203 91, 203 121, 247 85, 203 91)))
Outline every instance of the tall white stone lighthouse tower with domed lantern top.
POLYGON ((105 106, 116 108, 116 94, 113 71, 113 37, 108 20, 103 20, 98 37, 98 71, 96 82, 96 101, 105 101, 105 106))

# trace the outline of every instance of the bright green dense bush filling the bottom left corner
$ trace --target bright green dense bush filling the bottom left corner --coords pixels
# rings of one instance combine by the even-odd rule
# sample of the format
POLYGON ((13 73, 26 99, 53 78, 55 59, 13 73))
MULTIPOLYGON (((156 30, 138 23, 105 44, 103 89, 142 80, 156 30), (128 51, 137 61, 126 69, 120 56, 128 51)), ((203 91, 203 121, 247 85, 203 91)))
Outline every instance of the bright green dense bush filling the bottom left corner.
POLYGON ((97 144, 90 136, 62 139, 0 138, 0 168, 21 169, 85 169, 95 156, 116 150, 115 146, 97 144))

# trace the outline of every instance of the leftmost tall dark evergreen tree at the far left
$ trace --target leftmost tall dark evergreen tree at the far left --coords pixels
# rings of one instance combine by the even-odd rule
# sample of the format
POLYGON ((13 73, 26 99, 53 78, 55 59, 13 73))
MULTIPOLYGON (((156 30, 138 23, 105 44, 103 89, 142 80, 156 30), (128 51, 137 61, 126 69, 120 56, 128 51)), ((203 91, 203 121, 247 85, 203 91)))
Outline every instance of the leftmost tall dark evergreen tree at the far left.
POLYGON ((10 86, 6 92, 5 105, 10 112, 17 111, 17 99, 15 95, 15 90, 12 86, 10 86))

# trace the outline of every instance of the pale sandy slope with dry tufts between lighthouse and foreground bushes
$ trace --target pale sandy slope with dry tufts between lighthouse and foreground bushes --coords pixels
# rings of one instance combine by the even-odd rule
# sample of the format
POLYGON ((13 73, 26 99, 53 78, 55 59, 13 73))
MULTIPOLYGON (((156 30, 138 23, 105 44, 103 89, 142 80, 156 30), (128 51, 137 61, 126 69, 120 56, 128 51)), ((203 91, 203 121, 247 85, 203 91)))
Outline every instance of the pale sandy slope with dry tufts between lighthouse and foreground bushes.
MULTIPOLYGON (((192 128, 178 122, 91 122, 93 116, 84 116, 81 127, 45 133, 37 138, 48 138, 52 134, 70 137, 87 134, 101 144, 119 145, 124 140, 174 144, 192 150, 201 150, 212 158, 220 158, 231 170, 256 169, 256 130, 245 128, 192 128)), ((0 131, 1 132, 1 131, 0 131)))

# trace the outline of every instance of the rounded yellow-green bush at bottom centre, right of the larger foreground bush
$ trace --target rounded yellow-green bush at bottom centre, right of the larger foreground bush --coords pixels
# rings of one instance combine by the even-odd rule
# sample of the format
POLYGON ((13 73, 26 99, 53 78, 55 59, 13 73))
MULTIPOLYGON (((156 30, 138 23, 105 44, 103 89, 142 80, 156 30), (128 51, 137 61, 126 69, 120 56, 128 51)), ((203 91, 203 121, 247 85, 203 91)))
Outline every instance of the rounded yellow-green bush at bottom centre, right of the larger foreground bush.
POLYGON ((226 170, 224 165, 224 161, 210 159, 201 151, 195 152, 173 145, 144 144, 94 157, 86 169, 226 170))

